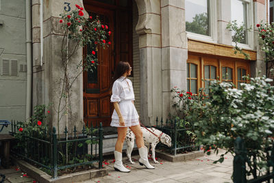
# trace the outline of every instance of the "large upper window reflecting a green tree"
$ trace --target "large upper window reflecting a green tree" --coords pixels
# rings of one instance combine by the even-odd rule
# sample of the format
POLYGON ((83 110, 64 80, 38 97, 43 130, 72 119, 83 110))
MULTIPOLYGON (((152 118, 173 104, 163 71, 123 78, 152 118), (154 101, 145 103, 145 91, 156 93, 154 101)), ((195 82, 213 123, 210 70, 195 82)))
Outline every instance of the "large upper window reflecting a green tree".
POLYGON ((211 36, 210 1, 186 0, 186 31, 211 36))

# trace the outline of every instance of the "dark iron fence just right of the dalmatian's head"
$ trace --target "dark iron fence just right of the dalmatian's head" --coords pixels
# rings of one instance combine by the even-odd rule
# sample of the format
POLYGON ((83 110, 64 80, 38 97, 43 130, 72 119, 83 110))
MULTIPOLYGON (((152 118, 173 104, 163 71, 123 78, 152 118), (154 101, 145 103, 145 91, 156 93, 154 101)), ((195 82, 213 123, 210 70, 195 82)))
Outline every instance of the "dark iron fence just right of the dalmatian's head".
POLYGON ((158 121, 157 117, 156 125, 154 127, 171 136, 171 147, 166 147, 161 143, 158 145, 159 147, 164 146, 164 149, 167 148, 170 154, 176 155, 178 151, 199 150, 199 146, 195 144, 195 137, 192 135, 191 129, 182 127, 176 119, 166 119, 166 122, 164 123, 163 119, 158 121))

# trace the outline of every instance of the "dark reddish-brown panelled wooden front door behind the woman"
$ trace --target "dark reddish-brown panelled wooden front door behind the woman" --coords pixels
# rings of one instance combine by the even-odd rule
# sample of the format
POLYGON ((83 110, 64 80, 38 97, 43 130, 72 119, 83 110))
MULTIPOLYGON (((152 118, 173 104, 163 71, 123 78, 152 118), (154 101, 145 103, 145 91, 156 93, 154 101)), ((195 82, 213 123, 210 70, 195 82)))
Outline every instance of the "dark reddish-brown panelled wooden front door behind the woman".
MULTIPOLYGON (((114 32, 114 12, 103 8, 88 6, 86 8, 90 16, 95 19, 99 16, 101 23, 108 25, 114 32)), ((113 42, 113 34, 110 41, 113 42)), ((84 55, 91 52, 89 47, 84 49, 84 55)), ((103 49, 98 47, 98 66, 95 71, 84 72, 84 121, 88 127, 99 125, 109 126, 113 105, 110 103, 111 82, 114 74, 114 44, 103 49)))

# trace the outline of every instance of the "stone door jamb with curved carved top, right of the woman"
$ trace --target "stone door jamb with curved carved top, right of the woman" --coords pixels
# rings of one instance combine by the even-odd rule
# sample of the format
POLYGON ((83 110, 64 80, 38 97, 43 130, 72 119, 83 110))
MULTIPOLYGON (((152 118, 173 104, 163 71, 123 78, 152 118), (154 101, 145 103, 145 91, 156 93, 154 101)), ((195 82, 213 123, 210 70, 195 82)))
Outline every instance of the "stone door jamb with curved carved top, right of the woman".
POLYGON ((136 0, 140 48, 140 117, 153 125, 162 112, 160 0, 136 0))

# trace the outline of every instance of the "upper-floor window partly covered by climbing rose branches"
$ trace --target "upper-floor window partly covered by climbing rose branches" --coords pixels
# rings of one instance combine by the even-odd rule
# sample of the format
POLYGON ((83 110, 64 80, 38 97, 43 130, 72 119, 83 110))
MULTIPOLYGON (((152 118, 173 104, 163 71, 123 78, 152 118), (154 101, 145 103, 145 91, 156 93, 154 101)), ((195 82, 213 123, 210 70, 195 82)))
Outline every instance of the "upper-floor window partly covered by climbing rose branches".
MULTIPOLYGON (((232 21, 237 21, 238 25, 245 25, 245 27, 249 27, 247 22, 247 1, 245 0, 232 0, 231 2, 231 17, 232 21)), ((247 32, 244 30, 240 33, 242 34, 242 40, 240 43, 248 44, 247 42, 247 32)), ((232 32, 232 41, 235 42, 234 38, 235 32, 232 32)))

